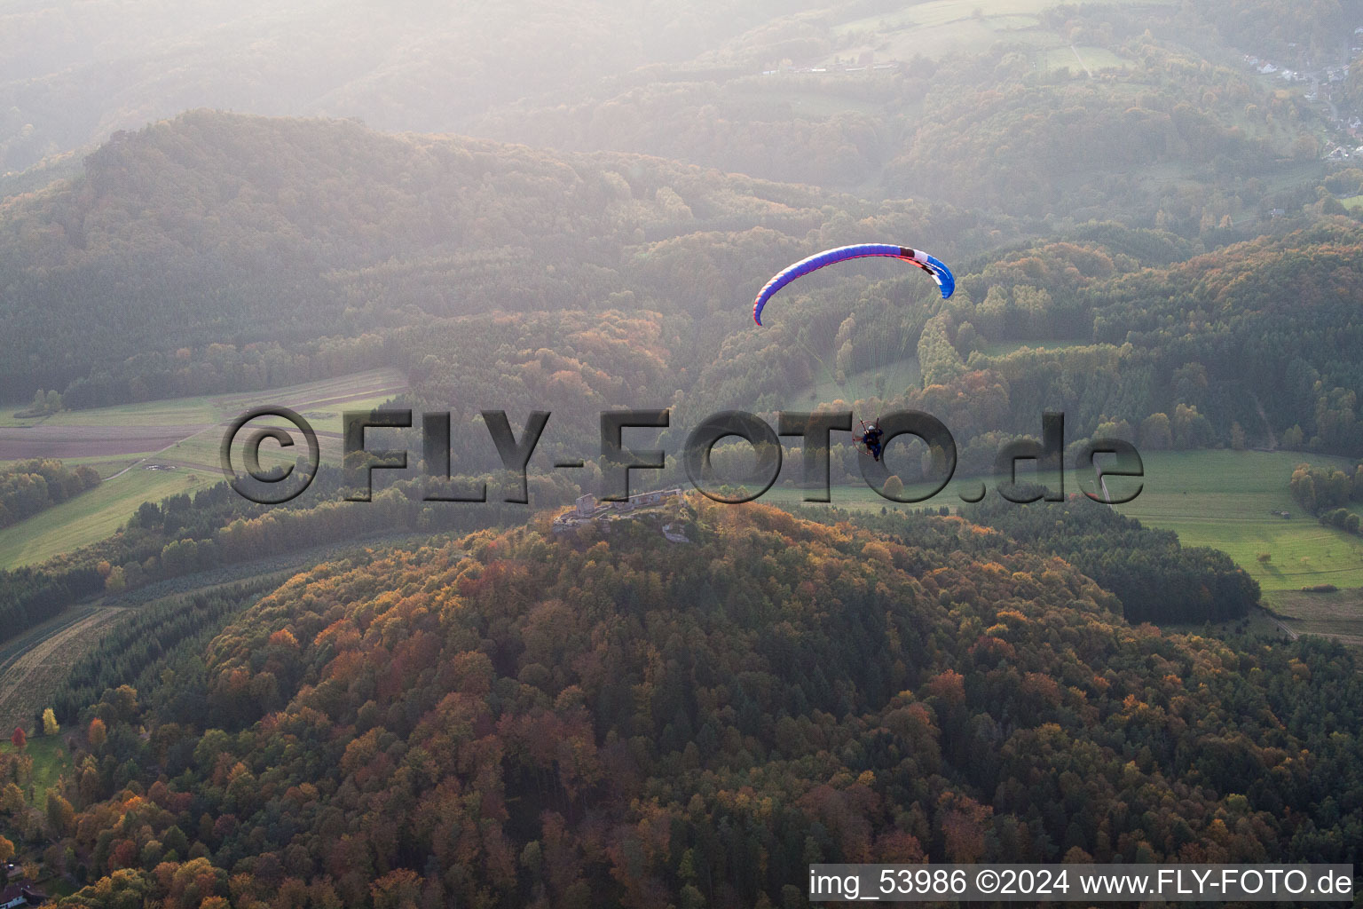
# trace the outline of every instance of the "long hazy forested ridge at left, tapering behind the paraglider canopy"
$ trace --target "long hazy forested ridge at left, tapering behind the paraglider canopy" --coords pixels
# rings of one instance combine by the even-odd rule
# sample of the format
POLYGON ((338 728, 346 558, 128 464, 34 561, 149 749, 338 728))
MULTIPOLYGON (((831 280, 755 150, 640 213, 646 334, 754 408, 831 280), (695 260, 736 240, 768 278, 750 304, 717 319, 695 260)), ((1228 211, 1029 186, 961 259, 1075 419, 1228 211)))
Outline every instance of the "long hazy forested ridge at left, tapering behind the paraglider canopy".
POLYGON ((192 112, 0 203, 0 397, 138 353, 356 335, 416 313, 615 297, 732 309, 737 326, 811 234, 934 236, 950 255, 972 222, 638 155, 192 112), (667 245, 680 236, 694 238, 667 245))

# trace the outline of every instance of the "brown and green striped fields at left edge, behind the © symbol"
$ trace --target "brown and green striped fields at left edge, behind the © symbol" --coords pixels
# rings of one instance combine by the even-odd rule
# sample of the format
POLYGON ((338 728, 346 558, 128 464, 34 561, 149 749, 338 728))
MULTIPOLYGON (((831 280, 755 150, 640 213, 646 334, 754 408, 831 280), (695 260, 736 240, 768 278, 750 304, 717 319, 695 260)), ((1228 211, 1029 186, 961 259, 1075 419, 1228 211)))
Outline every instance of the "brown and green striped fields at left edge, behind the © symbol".
MULTIPOLYGON (((61 458, 94 467, 104 482, 0 530, 0 568, 34 564, 95 542, 125 523, 143 502, 217 482, 222 435, 230 420, 251 407, 282 405, 303 414, 318 432, 322 459, 334 463, 341 458, 342 413, 382 406, 406 387, 399 372, 373 369, 270 391, 63 412, 30 421, 12 417, 22 407, 7 407, 10 425, 0 427, 0 467, 31 457, 61 458)), ((262 466, 292 463, 305 450, 301 437, 296 446, 281 450, 266 443, 262 466)))

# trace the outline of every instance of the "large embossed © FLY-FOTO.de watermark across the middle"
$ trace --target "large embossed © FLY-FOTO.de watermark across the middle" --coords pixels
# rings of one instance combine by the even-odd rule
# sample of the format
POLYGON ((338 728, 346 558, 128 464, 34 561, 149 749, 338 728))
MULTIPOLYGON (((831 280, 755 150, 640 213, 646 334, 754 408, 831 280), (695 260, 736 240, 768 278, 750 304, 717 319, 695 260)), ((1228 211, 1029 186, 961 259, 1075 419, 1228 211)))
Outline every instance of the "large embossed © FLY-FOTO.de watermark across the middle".
MULTIPOLYGON (((511 427, 503 410, 483 410, 485 427, 502 466, 510 473, 511 481, 504 493, 504 502, 529 503, 527 469, 530 458, 549 422, 549 413, 532 412, 525 425, 517 431, 511 427)), ((371 448, 367 431, 410 429, 421 427, 421 454, 425 476, 433 482, 427 502, 480 503, 488 500, 485 482, 468 482, 457 488, 451 473, 450 457, 451 418, 448 413, 423 413, 414 418, 412 410, 380 409, 346 412, 343 427, 343 467, 345 484, 350 489, 346 496, 352 502, 368 502, 373 489, 373 472, 406 470, 409 451, 405 448, 371 448)), ((665 470, 668 452, 661 448, 634 448, 627 446, 626 433, 643 433, 671 427, 669 410, 608 410, 601 414, 601 489, 602 502, 626 502, 630 497, 630 482, 635 472, 665 470)), ((886 450, 898 437, 912 437, 927 446, 931 467, 924 472, 924 487, 913 491, 895 488, 893 492, 886 481, 890 470, 885 458, 859 458, 860 473, 866 484, 878 495, 895 503, 913 504, 925 502, 946 488, 955 474, 957 446, 946 425, 932 414, 920 410, 897 410, 876 421, 879 429, 879 450, 886 450)), ((682 448, 682 462, 691 484, 714 502, 739 504, 752 502, 766 493, 777 481, 782 462, 782 437, 799 439, 800 469, 803 474, 806 502, 830 502, 830 450, 833 433, 852 432, 852 412, 780 412, 777 427, 743 410, 717 413, 687 435, 682 448), (737 491, 729 485, 718 485, 714 480, 711 452, 716 444, 725 439, 739 439, 751 447, 755 466, 750 482, 737 491)), ((910 439, 910 440, 912 440, 910 439)), ((320 447, 312 425, 288 407, 256 407, 241 414, 228 428, 221 446, 224 476, 240 495, 259 504, 279 504, 303 493, 312 481, 320 465, 320 447), (297 465, 264 469, 260 465, 260 448, 270 440, 278 448, 294 446, 293 435, 278 425, 249 424, 256 420, 285 420, 303 435, 307 457, 297 465), (233 448, 241 443, 244 472, 233 459, 233 448)), ((1045 499, 1065 499, 1065 416, 1044 413, 1041 417, 1041 440, 1017 439, 1005 444, 995 458, 994 473, 999 478, 998 491, 1009 502, 1025 503, 1045 499), (1018 482, 1020 465, 1030 463, 1037 476, 1048 477, 1047 487, 1028 487, 1018 482), (1052 480, 1054 477, 1054 480, 1052 480)), ((585 461, 560 461, 555 469, 581 469, 585 461)), ((1122 496, 1108 492, 1107 477, 1145 476, 1141 455, 1135 446, 1122 439, 1093 439, 1079 446, 1074 452, 1074 470, 1079 476, 1079 488, 1088 497, 1105 504, 1122 504, 1139 495, 1142 485, 1134 484, 1122 496), (1099 458, 1103 458, 1100 463, 1099 458), (1085 480, 1092 477, 1092 488, 1085 488, 1085 480)), ((979 502, 985 495, 983 482, 964 484, 957 491, 964 502, 979 502)))

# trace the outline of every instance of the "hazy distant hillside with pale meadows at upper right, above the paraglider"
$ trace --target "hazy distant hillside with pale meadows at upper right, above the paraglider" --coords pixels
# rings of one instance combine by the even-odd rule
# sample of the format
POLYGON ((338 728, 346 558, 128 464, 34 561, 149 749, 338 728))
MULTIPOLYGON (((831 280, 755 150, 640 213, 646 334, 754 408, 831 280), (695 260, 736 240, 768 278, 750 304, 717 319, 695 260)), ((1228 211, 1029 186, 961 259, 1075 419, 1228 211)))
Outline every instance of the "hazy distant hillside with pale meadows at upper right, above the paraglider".
POLYGON ((1289 3, 1291 16, 1269 3, 1197 5, 837 4, 756 29, 707 67, 497 105, 469 129, 870 198, 1048 221, 1120 213, 1205 233, 1205 221, 1255 214, 1264 181, 1310 179, 1302 166, 1345 139, 1303 86, 1261 78, 1239 48, 1264 52, 1258 38, 1272 34, 1285 50, 1296 34, 1293 55, 1311 57, 1310 46, 1315 68, 1343 64, 1348 15, 1338 4, 1289 3), (1272 29, 1240 25, 1264 19, 1272 29), (765 61, 761 72, 750 60, 765 61))

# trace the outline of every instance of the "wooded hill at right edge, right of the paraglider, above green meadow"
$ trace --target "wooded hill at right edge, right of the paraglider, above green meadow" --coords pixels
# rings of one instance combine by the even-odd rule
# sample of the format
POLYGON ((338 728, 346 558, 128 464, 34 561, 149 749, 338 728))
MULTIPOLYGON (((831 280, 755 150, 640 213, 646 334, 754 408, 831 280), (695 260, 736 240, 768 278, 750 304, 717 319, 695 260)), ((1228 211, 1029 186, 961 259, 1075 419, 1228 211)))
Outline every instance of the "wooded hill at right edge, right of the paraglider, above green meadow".
POLYGON ((1035 432, 1025 421, 1052 409, 1079 433, 1146 450, 1284 444, 1358 454, 1358 222, 1325 215, 1184 263, 1161 262, 1167 253, 1153 244, 1129 245, 1139 233, 1154 238, 1094 230, 1079 244, 999 255, 964 278, 961 300, 919 341, 925 387, 908 403, 980 432, 1035 432), (1146 267, 1131 267, 1123 247, 1146 267), (1056 335, 1078 343, 1045 341, 1056 335), (985 339, 1000 338, 1026 342, 991 353, 985 339))

